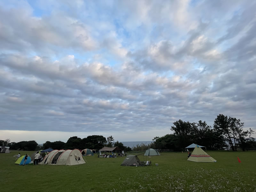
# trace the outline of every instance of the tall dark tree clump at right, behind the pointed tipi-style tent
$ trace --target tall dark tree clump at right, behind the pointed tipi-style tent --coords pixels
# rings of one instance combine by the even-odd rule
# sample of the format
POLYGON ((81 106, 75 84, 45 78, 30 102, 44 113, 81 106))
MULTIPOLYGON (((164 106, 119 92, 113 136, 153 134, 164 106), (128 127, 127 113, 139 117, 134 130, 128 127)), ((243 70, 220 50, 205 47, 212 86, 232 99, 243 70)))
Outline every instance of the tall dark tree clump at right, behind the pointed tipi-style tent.
POLYGON ((243 130, 244 123, 240 119, 220 114, 215 118, 213 128, 204 121, 190 123, 182 120, 176 121, 170 130, 173 134, 155 137, 155 148, 184 150, 191 143, 216 150, 226 148, 236 151, 241 148, 256 148, 256 141, 252 137, 254 131, 250 128, 243 130))

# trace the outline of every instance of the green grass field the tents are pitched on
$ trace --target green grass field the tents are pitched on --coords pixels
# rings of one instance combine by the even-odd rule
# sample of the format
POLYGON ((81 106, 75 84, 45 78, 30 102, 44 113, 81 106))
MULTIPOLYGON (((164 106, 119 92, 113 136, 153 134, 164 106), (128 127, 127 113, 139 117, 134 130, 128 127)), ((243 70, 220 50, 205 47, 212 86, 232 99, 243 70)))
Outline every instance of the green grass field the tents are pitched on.
POLYGON ((12 151, 0 154, 0 191, 256 191, 256 152, 207 153, 217 162, 190 162, 186 153, 165 152, 148 157, 152 166, 145 167, 120 166, 125 157, 97 156, 87 156, 82 165, 19 166, 12 151))

